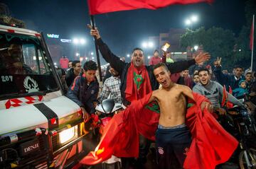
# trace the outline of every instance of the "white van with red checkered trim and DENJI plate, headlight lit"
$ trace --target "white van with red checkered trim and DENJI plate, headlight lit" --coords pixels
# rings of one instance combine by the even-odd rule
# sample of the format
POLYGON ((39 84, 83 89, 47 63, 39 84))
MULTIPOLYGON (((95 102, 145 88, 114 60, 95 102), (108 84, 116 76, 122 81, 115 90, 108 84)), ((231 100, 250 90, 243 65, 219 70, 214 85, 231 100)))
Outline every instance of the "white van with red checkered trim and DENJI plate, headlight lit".
POLYGON ((43 34, 0 25, 0 168, 78 168, 84 125, 43 34))

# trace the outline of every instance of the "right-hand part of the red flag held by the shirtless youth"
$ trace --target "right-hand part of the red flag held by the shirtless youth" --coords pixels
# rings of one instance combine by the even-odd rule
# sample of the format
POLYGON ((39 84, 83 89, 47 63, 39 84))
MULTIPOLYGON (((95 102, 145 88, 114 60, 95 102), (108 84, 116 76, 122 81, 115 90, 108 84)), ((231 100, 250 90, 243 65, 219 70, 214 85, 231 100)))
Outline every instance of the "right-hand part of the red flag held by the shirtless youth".
POLYGON ((193 98, 196 105, 186 113, 186 125, 193 140, 183 168, 214 169, 216 165, 228 161, 238 141, 221 127, 208 110, 201 111, 201 103, 207 101, 203 95, 193 93, 193 98))

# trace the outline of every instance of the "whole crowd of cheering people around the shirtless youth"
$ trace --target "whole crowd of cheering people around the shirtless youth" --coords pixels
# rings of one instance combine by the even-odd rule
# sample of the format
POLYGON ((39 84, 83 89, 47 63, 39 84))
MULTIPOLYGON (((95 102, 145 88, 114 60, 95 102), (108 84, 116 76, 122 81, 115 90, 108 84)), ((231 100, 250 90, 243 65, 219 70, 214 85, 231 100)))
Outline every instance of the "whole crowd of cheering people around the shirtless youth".
MULTIPOLYGON (((155 99, 160 107, 159 126, 156 131, 159 168, 171 168, 172 164, 167 158, 172 152, 176 157, 176 168, 177 163, 178 168, 183 166, 191 144, 191 134, 185 124, 186 97, 193 99, 193 92, 208 98, 209 102, 201 104, 202 110, 206 107, 209 112, 218 112, 219 115, 226 114, 221 104, 225 91, 229 91, 228 101, 233 105, 245 107, 241 101, 245 95, 256 104, 255 73, 250 69, 244 71, 241 66, 234 66, 233 72, 228 73, 221 66, 221 58, 217 58, 213 66, 204 66, 203 63, 210 59, 210 54, 205 52, 188 61, 174 62, 170 52, 163 52, 163 56, 160 57, 157 50, 154 51, 149 66, 146 66, 144 52, 140 48, 134 48, 132 62, 127 63, 111 52, 97 29, 91 29, 90 33, 95 37, 102 57, 110 64, 104 74, 102 91, 99 93, 100 85, 95 62, 88 61, 82 66, 80 61, 70 61, 66 74, 65 71, 59 70, 66 95, 81 107, 84 120, 87 122, 90 115, 95 113, 95 105, 106 98, 112 98, 115 103, 129 107, 134 100, 140 100, 154 91, 151 98, 155 99), (158 89, 163 90, 155 92, 158 89), (173 95, 170 96, 168 93, 173 95), (167 133, 168 139, 164 136, 167 133), (186 143, 183 144, 185 140, 186 143)), ((139 135, 137 163, 146 162, 150 144, 149 139, 142 134, 139 135)), ((134 163, 134 158, 124 158, 122 163, 123 168, 129 168, 134 163)))

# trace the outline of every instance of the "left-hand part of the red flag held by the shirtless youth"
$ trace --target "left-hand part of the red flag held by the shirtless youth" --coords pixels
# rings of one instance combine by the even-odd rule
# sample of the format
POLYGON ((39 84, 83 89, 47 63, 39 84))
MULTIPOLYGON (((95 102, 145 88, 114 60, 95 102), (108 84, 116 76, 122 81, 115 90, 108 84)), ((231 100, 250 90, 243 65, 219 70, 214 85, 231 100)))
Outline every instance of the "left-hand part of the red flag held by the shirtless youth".
MULTIPOLYGON (((127 109, 114 115, 105 127, 100 143, 95 148, 95 151, 90 152, 80 163, 95 165, 107 160, 112 154, 117 157, 137 157, 139 155, 139 127, 136 122, 138 120, 137 117, 149 116, 147 113, 144 113, 144 115, 137 115, 137 113, 143 113, 142 108, 148 103, 150 96, 151 93, 141 100, 134 100, 127 109)), ((154 114, 159 117, 159 114, 154 114)), ((146 119, 148 120, 149 118, 146 119)), ((159 118, 155 119, 155 126, 149 126, 154 129, 149 129, 149 131, 156 130, 159 118)), ((144 133, 148 134, 147 132, 144 133)), ((154 132, 149 133, 154 135, 154 132)), ((149 139, 154 139, 154 136, 149 136, 149 139)))

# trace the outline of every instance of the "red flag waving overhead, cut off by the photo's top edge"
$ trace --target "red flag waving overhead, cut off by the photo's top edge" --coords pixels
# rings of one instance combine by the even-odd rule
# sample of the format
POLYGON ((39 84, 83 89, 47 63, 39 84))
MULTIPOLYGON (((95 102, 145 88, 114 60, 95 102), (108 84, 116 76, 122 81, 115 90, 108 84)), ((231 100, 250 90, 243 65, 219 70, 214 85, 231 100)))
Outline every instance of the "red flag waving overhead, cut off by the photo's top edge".
POLYGON ((90 15, 137 8, 157 9, 172 4, 194 4, 213 0, 87 0, 90 15))

